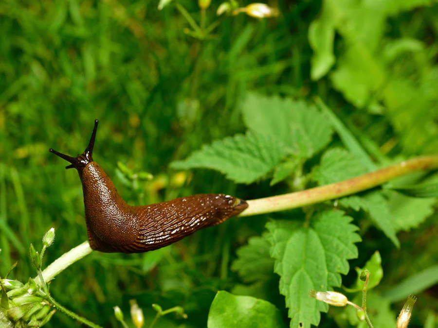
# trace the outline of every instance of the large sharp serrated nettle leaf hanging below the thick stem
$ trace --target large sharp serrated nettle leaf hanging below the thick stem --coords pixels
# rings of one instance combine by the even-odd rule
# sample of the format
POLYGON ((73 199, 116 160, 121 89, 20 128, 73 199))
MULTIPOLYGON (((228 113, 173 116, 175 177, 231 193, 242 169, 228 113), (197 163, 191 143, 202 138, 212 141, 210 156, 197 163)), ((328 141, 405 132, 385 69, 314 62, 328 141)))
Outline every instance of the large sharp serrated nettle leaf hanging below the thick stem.
POLYGON ((349 270, 347 259, 357 258, 355 242, 360 236, 352 218, 340 210, 314 215, 306 226, 296 221, 267 224, 271 256, 280 276, 280 293, 286 296, 291 328, 318 325, 320 311, 328 305, 309 297, 311 289, 331 290, 341 286, 341 275, 349 270))

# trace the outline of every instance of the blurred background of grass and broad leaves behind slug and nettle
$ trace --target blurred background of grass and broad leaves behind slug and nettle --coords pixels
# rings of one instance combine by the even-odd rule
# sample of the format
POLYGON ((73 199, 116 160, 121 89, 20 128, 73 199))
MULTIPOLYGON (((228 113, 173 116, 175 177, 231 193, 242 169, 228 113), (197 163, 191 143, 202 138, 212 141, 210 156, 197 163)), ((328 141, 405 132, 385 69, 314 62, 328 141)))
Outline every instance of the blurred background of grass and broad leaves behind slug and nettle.
MULTIPOLYGON (((197 1, 179 2, 199 21, 197 1)), ((157 1, 2 0, 0 274, 18 259, 14 278, 35 276, 27 250, 51 227, 56 240, 46 264, 86 240, 77 173, 48 149, 82 153, 94 119, 94 159, 137 205, 202 192, 252 199, 290 191, 286 184, 235 185, 207 170, 168 169, 204 143, 244 132, 239 105, 250 90, 321 97, 382 163, 436 153, 438 4, 378 2, 278 0, 270 5, 279 17, 224 17, 211 38, 199 40, 184 33, 189 24, 172 3, 158 10, 157 1), (118 162, 154 178, 129 180, 118 162)), ((207 22, 217 19, 219 4, 207 9, 207 22)), ((363 236, 351 267, 380 249, 390 282, 436 263, 436 220, 434 214, 400 234, 408 243, 402 251, 363 236)), ((51 292, 105 327, 117 327, 112 307, 128 313, 131 298, 146 321, 152 303, 180 305, 188 319, 169 317, 163 327, 205 327, 216 291, 240 283, 230 270, 237 247, 260 235, 266 221, 230 220, 154 253, 93 253, 57 276, 51 292)), ((277 286, 270 301, 283 309, 277 286)), ((437 288, 427 293, 427 309, 438 311, 437 288)), ((427 313, 419 310, 412 327, 421 327, 427 313)), ((77 325, 56 313, 48 327, 77 325)))

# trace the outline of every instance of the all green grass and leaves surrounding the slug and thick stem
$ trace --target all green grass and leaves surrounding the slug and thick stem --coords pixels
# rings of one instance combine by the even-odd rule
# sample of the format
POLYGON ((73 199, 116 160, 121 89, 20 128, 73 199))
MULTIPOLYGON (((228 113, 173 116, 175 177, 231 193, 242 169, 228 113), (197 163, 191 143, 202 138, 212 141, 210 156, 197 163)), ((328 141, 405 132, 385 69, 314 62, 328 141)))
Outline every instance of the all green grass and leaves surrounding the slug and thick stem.
MULTIPOLYGON (((42 268, 87 239, 77 173, 48 149, 81 153, 94 119, 93 157, 132 205, 269 197, 437 153, 437 1, 280 0, 270 20, 216 20, 219 5, 0 1, 0 275, 19 260, 10 284, 35 276, 28 247, 52 226, 42 268)), ((146 254, 94 252, 50 292, 103 327, 120 327, 113 307, 129 313, 132 298, 146 326, 159 303, 188 318, 155 327, 233 327, 235 318, 239 327, 365 327, 354 308, 308 297, 359 289, 357 265, 371 270, 375 327, 395 327, 408 293, 421 306, 412 327, 434 327, 436 298, 424 291, 437 276, 436 182, 412 174, 268 224, 234 218, 146 254)), ((12 328, 1 310, 0 326, 12 328)), ((58 311, 45 327, 77 323, 58 311)))

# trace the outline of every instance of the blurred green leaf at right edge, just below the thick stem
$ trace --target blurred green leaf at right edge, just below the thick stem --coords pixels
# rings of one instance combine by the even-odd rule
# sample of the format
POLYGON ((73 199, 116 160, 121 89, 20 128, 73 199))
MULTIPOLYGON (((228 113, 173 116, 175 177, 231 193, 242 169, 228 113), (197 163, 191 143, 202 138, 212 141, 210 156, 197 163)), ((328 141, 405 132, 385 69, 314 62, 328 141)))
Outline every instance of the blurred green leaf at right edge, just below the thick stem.
POLYGON ((396 231, 409 231, 434 213, 437 198, 413 198, 398 192, 388 192, 389 207, 396 231))

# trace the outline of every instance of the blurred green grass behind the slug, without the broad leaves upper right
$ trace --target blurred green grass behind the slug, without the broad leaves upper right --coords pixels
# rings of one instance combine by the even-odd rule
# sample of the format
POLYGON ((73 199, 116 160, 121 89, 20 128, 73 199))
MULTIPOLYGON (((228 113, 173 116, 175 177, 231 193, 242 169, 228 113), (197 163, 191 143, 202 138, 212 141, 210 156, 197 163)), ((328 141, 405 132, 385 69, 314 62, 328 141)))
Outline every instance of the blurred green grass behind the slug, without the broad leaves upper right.
MULTIPOLYGON (((181 3, 199 17, 196 1, 181 3)), ((207 11, 209 21, 216 19, 219 3, 214 1, 207 11)), ((320 11, 318 1, 280 0, 284 16, 276 20, 226 19, 215 31, 217 37, 202 43, 184 35, 187 23, 172 5, 162 11, 157 5, 0 2, 0 274, 19 259, 13 276, 35 276, 27 249, 31 242, 39 247, 50 227, 55 227, 56 240, 45 263, 86 240, 77 174, 64 170, 66 163, 48 149, 82 153, 94 119, 100 120, 94 159, 135 204, 201 192, 250 199, 286 190, 271 189, 265 182, 236 186, 203 170, 187 175, 183 184, 168 182, 175 177, 167 169, 170 161, 243 131, 239 102, 248 90, 319 95, 331 108, 341 108, 365 136, 379 140, 376 147, 394 135, 385 117, 355 113, 329 79, 310 80, 307 31, 320 11), (142 183, 140 189, 146 191, 139 195, 116 177, 117 161, 158 177, 142 183)), ((414 21, 424 25, 419 34, 434 47, 437 12, 437 6, 420 9, 415 15, 427 20, 414 21)), ((392 18, 392 32, 410 34, 412 20, 409 14, 392 18)), ((436 52, 425 60, 436 63, 436 52)), ((397 142, 392 152, 401 152, 397 142)), ((189 316, 185 322, 205 327, 215 292, 237 280, 228 270, 236 247, 260 234, 265 220, 231 220, 200 231, 163 252, 160 266, 151 272, 144 270, 151 260, 147 255, 94 253, 57 276, 51 291, 61 304, 105 327, 117 327, 112 307, 128 313, 132 297, 145 308, 151 303, 164 309, 181 305, 189 316)), ((48 327, 77 324, 57 313, 48 327)))

